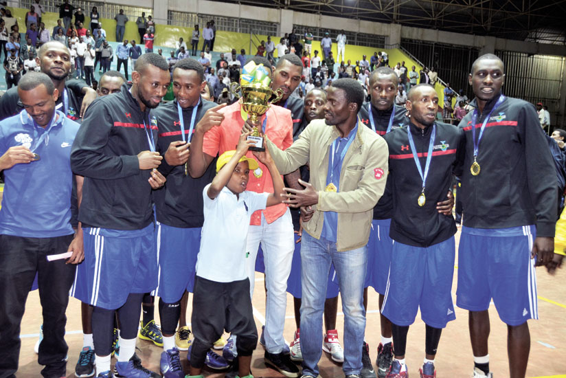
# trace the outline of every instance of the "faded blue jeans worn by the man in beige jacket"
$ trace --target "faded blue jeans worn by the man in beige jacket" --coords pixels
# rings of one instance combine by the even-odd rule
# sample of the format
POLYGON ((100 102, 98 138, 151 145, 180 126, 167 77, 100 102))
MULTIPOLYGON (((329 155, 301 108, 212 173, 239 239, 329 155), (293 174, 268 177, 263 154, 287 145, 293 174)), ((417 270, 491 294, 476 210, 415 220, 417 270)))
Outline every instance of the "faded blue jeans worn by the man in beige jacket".
POLYGON ((363 284, 367 266, 367 245, 337 252, 336 243, 319 240, 303 232, 301 241, 302 305, 301 351, 303 374, 317 377, 322 355, 322 313, 330 264, 334 263, 344 313, 345 375, 360 374, 361 349, 365 333, 363 284))

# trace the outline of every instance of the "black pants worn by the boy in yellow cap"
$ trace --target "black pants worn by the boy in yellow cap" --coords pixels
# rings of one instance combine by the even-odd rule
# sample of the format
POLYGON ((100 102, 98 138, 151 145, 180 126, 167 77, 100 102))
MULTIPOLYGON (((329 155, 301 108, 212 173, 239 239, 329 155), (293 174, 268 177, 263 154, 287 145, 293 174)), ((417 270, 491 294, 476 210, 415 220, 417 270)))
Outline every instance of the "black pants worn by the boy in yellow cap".
POLYGON ((238 355, 250 356, 256 348, 258 330, 253 320, 247 278, 234 282, 215 282, 196 276, 192 308, 194 340, 190 363, 194 368, 203 367, 207 351, 224 330, 238 335, 238 355))

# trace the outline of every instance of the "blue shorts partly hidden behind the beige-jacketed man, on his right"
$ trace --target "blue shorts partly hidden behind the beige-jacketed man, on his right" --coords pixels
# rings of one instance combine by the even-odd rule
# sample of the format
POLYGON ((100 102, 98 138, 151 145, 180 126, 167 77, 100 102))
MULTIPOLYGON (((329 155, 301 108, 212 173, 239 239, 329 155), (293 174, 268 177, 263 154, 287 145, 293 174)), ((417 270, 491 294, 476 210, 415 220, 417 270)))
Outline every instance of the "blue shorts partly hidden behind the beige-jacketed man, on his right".
POLYGON ((371 286, 380 294, 385 294, 387 276, 393 241, 389 237, 391 219, 374 219, 370 230, 370 241, 367 242, 367 272, 365 287, 371 286))

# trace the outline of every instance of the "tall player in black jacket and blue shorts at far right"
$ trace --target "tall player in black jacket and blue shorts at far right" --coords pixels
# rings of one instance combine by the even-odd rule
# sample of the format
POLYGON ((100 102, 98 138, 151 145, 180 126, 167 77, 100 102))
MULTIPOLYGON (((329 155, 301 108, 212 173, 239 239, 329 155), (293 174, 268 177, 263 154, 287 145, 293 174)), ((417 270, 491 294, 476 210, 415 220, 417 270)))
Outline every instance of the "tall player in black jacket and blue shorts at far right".
POLYGON ((470 311, 473 377, 489 373, 490 300, 508 326, 511 378, 525 377, 528 319, 537 319, 534 267, 553 271, 556 173, 532 104, 501 93, 503 62, 480 56, 469 76, 475 99, 466 134, 464 227, 458 248, 457 306, 470 311))

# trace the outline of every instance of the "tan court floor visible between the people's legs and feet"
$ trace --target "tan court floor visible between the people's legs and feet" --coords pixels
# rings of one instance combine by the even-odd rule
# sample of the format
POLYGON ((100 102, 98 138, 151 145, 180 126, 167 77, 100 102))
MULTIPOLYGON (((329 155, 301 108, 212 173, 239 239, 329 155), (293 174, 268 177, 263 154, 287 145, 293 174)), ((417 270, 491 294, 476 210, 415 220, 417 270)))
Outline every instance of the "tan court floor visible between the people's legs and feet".
MULTIPOLYGON (((458 236, 458 235, 457 235, 458 236)), ((530 320, 531 351, 527 370, 527 377, 554 377, 566 378, 566 268, 561 269, 554 276, 550 276, 543 268, 537 269, 539 284, 539 318, 530 320)), ((455 302, 457 264, 454 270, 453 296, 455 302)), ((256 274, 256 292, 253 295, 254 315, 258 329, 264 323, 265 293, 262 290, 263 275, 256 274)), ((370 344, 370 355, 375 363, 376 347, 379 343, 379 313, 377 294, 370 289, 369 308, 367 311, 367 328, 365 338, 370 344)), ((342 339, 343 315, 339 315, 337 328, 342 339)), ((468 315, 462 309, 456 309, 456 320, 450 322, 440 340, 435 366, 438 377, 469 377, 473 368, 473 357, 468 337, 468 315)), ((295 320, 293 319, 293 298, 288 296, 284 336, 287 342, 293 339, 295 320)), ((159 315, 155 311, 156 321, 159 315)), ((82 348, 82 332, 80 326, 80 302, 71 298, 67 309, 67 342, 69 343, 69 362, 67 364, 67 377, 74 377, 74 367, 78 354, 82 348)), ((188 318, 190 320, 190 309, 188 318)), ((490 335, 490 367, 495 377, 509 377, 506 352, 506 326, 503 324, 493 305, 490 307, 491 335, 490 335)), ((34 353, 34 344, 38 337, 41 325, 41 307, 37 291, 30 293, 27 308, 21 327, 21 353, 20 370, 18 377, 41 377, 41 366, 37 364, 37 355, 34 353)), ((150 342, 138 340, 137 346, 140 357, 146 367, 158 371, 159 356, 162 348, 150 342)), ((279 373, 270 370, 263 363, 263 348, 258 345, 253 354, 252 370, 255 377, 282 377, 279 373)), ((407 345, 407 366, 411 377, 418 377, 418 369, 425 354, 425 324, 417 320, 409 331, 407 345)), ((183 366, 188 368, 185 359, 186 353, 181 353, 183 366)), ((324 378, 343 377, 341 366, 331 362, 330 357, 323 353, 319 363, 321 376, 324 378)), ((210 377, 223 377, 221 373, 205 371, 210 377)))

